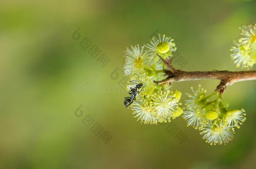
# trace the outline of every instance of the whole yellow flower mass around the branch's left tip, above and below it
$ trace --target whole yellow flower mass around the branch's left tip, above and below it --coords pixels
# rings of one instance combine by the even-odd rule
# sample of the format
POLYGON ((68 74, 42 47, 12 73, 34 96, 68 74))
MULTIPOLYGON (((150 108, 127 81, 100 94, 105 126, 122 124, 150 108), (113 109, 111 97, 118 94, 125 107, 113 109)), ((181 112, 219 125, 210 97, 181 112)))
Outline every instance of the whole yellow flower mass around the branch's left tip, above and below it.
POLYGON ((147 45, 131 46, 125 51, 124 73, 128 76, 127 91, 131 92, 138 81, 143 87, 131 104, 133 114, 144 124, 157 124, 175 119, 183 113, 180 108, 180 91, 170 91, 170 86, 156 85, 165 75, 165 65, 157 55, 171 57, 176 47, 173 39, 165 35, 154 36, 147 45))

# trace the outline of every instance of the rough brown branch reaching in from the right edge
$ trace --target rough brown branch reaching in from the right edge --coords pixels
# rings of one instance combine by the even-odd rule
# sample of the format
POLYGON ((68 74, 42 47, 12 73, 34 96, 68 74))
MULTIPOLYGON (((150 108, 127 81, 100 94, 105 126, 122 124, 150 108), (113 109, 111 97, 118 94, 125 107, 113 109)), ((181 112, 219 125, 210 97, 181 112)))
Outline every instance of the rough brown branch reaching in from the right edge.
POLYGON ((217 86, 216 91, 223 93, 227 86, 235 82, 256 80, 256 71, 194 71, 186 72, 176 70, 163 81, 154 81, 156 84, 173 83, 178 81, 195 81, 203 79, 219 79, 221 83, 217 86))

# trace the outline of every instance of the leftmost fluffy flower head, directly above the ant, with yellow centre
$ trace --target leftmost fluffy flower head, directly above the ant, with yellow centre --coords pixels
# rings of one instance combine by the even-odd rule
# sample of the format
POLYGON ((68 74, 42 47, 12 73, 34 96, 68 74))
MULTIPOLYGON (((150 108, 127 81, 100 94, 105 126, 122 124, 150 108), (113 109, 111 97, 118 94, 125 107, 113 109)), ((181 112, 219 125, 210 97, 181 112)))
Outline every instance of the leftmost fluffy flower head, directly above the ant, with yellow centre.
POLYGON ((145 73, 144 62, 147 59, 148 52, 144 50, 145 46, 141 48, 139 45, 131 46, 131 49, 126 48, 124 73, 126 76, 134 74, 141 75, 145 73))

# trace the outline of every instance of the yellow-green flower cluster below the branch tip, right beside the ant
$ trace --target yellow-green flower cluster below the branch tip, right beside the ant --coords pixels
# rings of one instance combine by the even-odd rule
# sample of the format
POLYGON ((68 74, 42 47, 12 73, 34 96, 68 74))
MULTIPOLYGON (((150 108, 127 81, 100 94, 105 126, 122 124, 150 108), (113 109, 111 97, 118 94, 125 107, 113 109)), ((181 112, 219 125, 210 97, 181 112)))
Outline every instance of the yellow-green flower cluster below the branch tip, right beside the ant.
MULTIPOLYGON (((179 106, 181 103, 180 91, 170 91, 170 86, 158 86, 152 82, 152 79, 140 79, 145 85, 142 92, 136 96, 133 102, 133 114, 141 123, 157 124, 162 122, 170 122, 183 113, 183 109, 179 106)), ((129 85, 130 86, 130 85, 129 85)))

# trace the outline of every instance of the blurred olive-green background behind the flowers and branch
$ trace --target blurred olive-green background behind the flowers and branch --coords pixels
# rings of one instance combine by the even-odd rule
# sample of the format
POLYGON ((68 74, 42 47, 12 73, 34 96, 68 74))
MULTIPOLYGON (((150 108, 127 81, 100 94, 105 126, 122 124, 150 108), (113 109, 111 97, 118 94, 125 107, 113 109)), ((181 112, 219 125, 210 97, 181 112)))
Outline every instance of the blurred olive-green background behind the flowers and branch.
MULTIPOLYGON (((182 117, 173 122, 187 136, 183 144, 161 125, 140 124, 123 106, 126 93, 76 91, 82 81, 117 84, 126 46, 148 43, 156 32, 174 38, 188 62, 185 71, 240 70, 230 61, 230 47, 242 24, 256 23, 255 9, 253 0, 1 1, 0 168, 255 168, 256 81, 225 92, 230 108, 247 111, 225 146, 206 144, 182 117), (78 28, 81 39, 73 40, 78 28), (106 66, 81 47, 86 37, 110 59, 106 66), (88 114, 91 126, 83 123, 88 114), (91 131, 96 122, 103 127, 98 135, 91 131), (112 136, 107 144, 100 138, 104 131, 112 136)), ((172 88, 184 101, 199 83, 211 93, 219 81, 172 88)))

